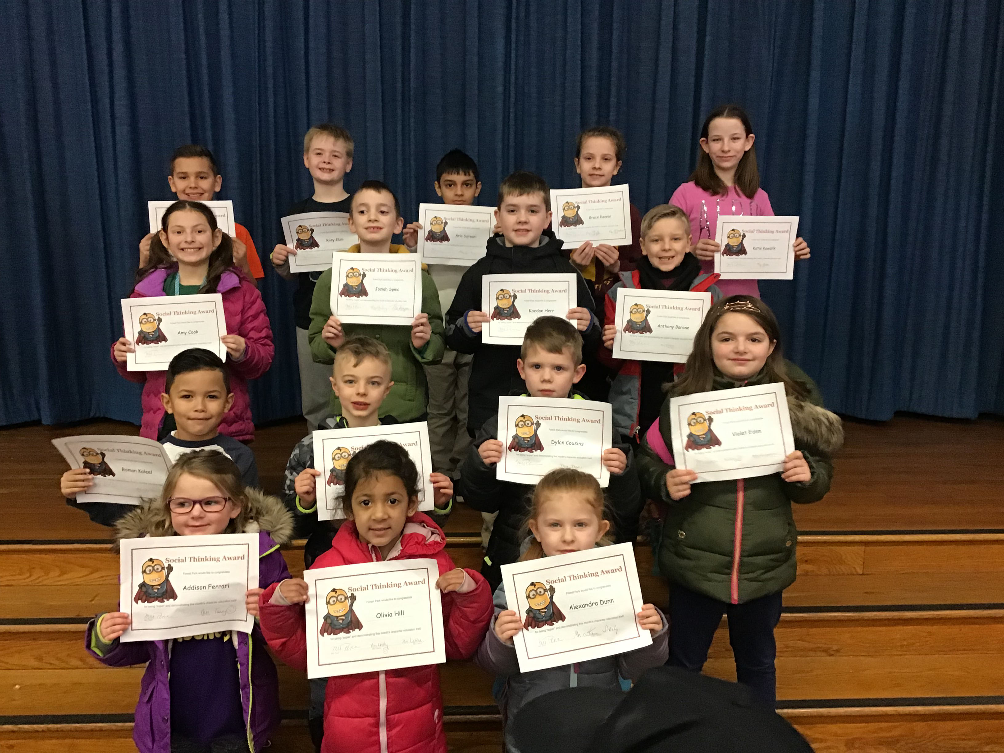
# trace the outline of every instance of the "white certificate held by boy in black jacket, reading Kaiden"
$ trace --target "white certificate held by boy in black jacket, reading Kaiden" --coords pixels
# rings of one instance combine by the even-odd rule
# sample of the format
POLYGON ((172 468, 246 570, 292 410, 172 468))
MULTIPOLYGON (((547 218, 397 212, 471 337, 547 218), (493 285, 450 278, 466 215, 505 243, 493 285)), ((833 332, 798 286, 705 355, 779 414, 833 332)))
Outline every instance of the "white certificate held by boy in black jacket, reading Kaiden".
POLYGON ((574 272, 568 274, 486 274, 481 278, 481 306, 488 322, 481 341, 522 345, 526 328, 538 316, 560 316, 578 305, 574 272))

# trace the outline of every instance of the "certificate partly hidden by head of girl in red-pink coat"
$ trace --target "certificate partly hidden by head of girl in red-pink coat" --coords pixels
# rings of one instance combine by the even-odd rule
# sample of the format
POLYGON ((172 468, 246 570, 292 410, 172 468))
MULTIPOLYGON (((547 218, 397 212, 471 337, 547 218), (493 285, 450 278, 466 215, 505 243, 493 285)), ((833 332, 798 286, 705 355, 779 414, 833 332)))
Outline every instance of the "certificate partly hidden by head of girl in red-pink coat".
POLYGON ((371 426, 363 429, 323 429, 313 433, 314 468, 317 477, 317 519, 337 520, 345 517, 341 499, 345 493, 345 467, 359 450, 376 440, 397 442, 408 450, 419 469, 419 509, 432 510, 435 497, 429 475, 433 472, 432 450, 429 445, 429 424, 371 426))

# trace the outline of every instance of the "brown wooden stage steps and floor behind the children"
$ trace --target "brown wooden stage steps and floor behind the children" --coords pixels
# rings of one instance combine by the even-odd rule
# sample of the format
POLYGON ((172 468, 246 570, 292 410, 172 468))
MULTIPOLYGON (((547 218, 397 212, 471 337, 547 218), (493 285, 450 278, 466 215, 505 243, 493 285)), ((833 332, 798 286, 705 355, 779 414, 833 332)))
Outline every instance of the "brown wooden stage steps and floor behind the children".
MULTIPOLYGON (((142 668, 110 669, 83 651, 82 626, 114 608, 117 558, 108 530, 66 507, 64 468, 48 444, 70 434, 132 434, 92 422, 0 431, 0 751, 132 751, 142 668), (33 458, 32 463, 20 462, 33 458)), ((259 430, 265 488, 277 491, 291 422, 259 430)), ((900 417, 848 423, 834 488, 796 508, 799 576, 777 629, 780 713, 820 753, 1004 750, 1004 423, 900 417), (960 429, 965 427, 965 432, 960 429), (960 442, 959 436, 965 436, 960 442)), ((458 506, 447 526, 458 564, 477 567, 480 517, 458 506)), ((302 569, 302 542, 284 551, 302 569)), ((663 604, 665 583, 643 589, 663 604)), ((706 672, 734 679, 723 629, 706 672)), ((499 750, 491 678, 470 663, 443 668, 451 749, 499 750)), ((288 713, 273 749, 312 750, 306 683, 280 666, 288 713)))

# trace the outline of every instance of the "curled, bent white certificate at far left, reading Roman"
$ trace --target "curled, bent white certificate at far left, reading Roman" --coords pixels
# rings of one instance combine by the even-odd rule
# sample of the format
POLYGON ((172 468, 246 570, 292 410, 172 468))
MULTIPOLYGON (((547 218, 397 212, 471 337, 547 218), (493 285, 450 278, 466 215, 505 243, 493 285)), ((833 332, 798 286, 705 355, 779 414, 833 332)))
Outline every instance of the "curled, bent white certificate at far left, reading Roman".
POLYGON ((77 502, 138 505, 161 495, 171 457, 164 446, 143 437, 91 434, 61 437, 52 444, 70 468, 86 468, 94 481, 77 502))

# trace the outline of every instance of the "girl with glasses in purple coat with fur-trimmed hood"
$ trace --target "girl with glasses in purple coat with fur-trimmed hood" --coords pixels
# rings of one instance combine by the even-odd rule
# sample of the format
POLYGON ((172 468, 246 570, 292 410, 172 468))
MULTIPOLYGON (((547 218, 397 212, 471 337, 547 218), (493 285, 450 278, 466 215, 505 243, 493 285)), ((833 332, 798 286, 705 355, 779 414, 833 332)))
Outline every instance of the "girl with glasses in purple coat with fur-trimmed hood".
MULTIPOLYGON (((232 460, 213 450, 182 456, 168 474, 161 499, 118 523, 118 538, 258 533, 258 588, 247 610, 258 614, 262 588, 289 577, 279 546, 292 535, 282 502, 245 489, 232 460)), ((170 598, 170 567, 150 563, 153 595, 170 598)), ((145 569, 146 572, 146 569, 145 569)), ((144 578, 144 584, 148 578, 144 578)), ((257 626, 174 641, 121 643, 130 615, 105 612, 87 624, 85 646, 109 667, 147 665, 133 739, 140 753, 177 750, 261 750, 279 725, 279 680, 257 626)))

